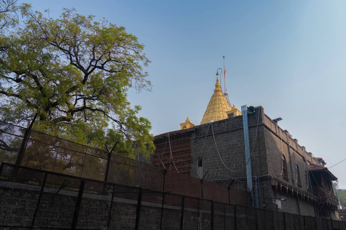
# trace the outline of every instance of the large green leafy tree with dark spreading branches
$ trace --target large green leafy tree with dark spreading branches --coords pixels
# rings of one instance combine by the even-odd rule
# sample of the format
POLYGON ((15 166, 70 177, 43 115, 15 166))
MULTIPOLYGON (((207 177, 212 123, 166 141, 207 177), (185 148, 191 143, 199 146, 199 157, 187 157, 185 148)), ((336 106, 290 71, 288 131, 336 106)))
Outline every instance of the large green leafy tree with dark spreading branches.
POLYGON ((127 100, 131 87, 151 90, 137 37, 75 9, 53 19, 23 4, 20 14, 0 17, 0 119, 23 125, 38 113, 35 130, 102 149, 118 141, 130 157, 152 152, 151 123, 127 100))

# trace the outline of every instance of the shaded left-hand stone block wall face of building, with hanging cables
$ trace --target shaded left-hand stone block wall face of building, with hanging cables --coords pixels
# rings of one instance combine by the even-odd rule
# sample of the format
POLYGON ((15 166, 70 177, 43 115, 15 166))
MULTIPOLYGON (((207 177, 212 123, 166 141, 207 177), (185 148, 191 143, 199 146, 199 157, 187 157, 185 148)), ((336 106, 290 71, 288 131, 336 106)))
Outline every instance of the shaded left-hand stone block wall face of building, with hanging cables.
MULTIPOLYGON (((257 107, 255 113, 248 115, 252 173, 258 176, 268 174, 264 127, 257 127, 257 122, 258 124, 263 123, 262 115, 263 107, 257 107)), ((208 170, 207 180, 224 178, 242 178, 244 180, 246 169, 242 116, 216 121, 212 123, 212 126, 210 123, 197 126, 197 130, 191 138, 193 168, 197 168, 198 157, 203 158, 203 173, 208 170)), ((197 177, 193 173, 191 176, 197 177)))

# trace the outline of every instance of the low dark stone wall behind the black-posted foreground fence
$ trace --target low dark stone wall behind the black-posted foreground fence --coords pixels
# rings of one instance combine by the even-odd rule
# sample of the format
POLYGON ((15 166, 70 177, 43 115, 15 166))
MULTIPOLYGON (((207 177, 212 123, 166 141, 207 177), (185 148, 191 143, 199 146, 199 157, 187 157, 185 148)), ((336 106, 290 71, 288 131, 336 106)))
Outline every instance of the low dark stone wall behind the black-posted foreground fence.
MULTIPOLYGON (((3 182, 0 186, 0 225, 31 226, 40 187, 19 183, 4 184, 3 182)), ((54 191, 56 189, 45 188, 43 190, 34 228, 71 228, 78 192, 60 190, 58 194, 54 195, 54 191)), ((162 210, 162 203, 160 203, 160 200, 157 200, 157 194, 144 194, 146 195, 143 195, 145 200, 142 200, 140 209, 139 229, 159 229, 162 212, 162 229, 179 230, 181 223, 181 197, 178 197, 180 199, 177 200, 177 197, 170 195, 171 199, 167 200, 167 202, 177 204, 167 203, 162 210)), ((195 228, 200 219, 202 229, 211 229, 210 201, 200 201, 200 208, 198 208, 198 199, 186 198, 186 202, 188 206, 189 204, 195 206, 194 208, 186 207, 184 209, 183 224, 186 229, 195 228), (197 201, 197 203, 193 203, 193 201, 197 201), (203 207, 205 208, 204 210, 203 207)), ((108 195, 83 193, 77 228, 107 229, 110 204, 111 197, 108 195)), ((109 229, 134 229, 136 208, 137 200, 114 197, 109 229)), ((21 230, 20 227, 10 229, 21 230)))

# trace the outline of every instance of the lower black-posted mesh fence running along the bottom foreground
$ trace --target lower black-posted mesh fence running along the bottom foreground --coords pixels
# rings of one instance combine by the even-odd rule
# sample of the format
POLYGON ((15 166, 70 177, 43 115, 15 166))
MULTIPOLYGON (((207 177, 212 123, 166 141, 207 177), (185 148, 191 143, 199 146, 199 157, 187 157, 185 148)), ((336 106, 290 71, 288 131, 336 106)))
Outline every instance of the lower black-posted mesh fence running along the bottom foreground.
POLYGON ((0 165, 0 229, 346 230, 346 222, 0 165))

